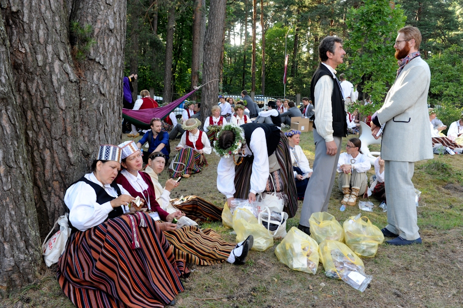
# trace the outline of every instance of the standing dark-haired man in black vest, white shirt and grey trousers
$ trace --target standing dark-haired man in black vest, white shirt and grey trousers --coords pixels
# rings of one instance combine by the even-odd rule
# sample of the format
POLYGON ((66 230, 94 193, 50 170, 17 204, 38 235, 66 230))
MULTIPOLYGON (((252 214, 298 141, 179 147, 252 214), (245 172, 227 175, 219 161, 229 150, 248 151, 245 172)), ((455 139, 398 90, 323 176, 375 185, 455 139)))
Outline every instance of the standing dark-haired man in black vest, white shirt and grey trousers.
POLYGON ((299 222, 299 229, 307 234, 310 234, 310 215, 328 210, 328 201, 341 152, 341 137, 346 137, 344 99, 341 85, 335 75, 335 69, 343 62, 345 54, 341 38, 325 37, 318 46, 321 63, 310 82, 310 96, 315 107, 313 123, 315 160, 299 222))

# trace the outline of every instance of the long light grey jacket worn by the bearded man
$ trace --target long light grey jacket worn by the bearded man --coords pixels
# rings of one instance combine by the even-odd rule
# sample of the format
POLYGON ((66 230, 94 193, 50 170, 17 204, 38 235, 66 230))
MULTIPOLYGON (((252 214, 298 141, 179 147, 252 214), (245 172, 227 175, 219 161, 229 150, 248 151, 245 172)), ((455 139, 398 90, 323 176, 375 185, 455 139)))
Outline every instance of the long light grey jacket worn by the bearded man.
POLYGON ((428 114, 430 81, 429 66, 421 57, 405 65, 395 79, 377 113, 380 123, 386 123, 381 158, 409 162, 433 158, 428 114))

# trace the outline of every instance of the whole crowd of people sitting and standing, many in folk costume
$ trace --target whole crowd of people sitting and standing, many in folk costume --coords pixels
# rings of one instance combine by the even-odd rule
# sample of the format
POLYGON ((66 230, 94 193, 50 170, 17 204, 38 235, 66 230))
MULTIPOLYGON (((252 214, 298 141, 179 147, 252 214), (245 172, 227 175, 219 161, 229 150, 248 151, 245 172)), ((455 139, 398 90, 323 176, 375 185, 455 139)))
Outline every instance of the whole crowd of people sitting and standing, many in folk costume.
MULTIPOLYGON (((359 118, 358 110, 348 114, 345 109, 356 94, 343 74, 341 81, 336 77, 346 52, 342 39, 334 36, 319 44, 321 62, 312 77, 311 97, 302 99, 301 109, 293 101, 277 99, 261 111, 244 90, 237 101, 220 95, 205 123, 199 120, 200 103, 189 102, 178 121, 173 113, 152 119, 151 130, 138 143, 101 145, 91 172, 72 184, 64 198, 72 235, 57 277, 65 294, 77 307, 164 307, 175 304, 175 296, 184 290, 180 278, 189 275, 186 263, 243 264, 253 245, 252 235, 231 243, 198 226, 220 221, 222 208, 199 196, 170 199, 182 177, 208 165, 206 155, 212 151, 220 156, 217 190, 229 205, 235 198, 252 203, 266 192, 276 192, 292 218, 301 200, 298 228, 310 234, 309 218, 328 211, 337 176, 341 205, 355 206, 371 193, 387 201, 388 224, 382 232, 392 237, 388 244, 421 243, 411 182, 414 162, 432 158, 431 138, 433 143, 439 138, 456 144, 463 133, 463 113, 447 136, 441 133, 446 126, 433 124, 435 112, 427 109, 430 72, 420 57, 420 42, 415 27, 397 32, 397 78, 369 123, 371 134, 383 138, 370 187, 367 172, 372 166, 361 151, 361 140, 347 140, 341 153, 342 138, 359 133, 359 118), (313 120, 313 168, 300 146, 301 132, 282 131, 292 117, 313 120), (178 137, 177 153, 170 157, 170 141, 178 137), (409 142, 403 143, 404 138, 409 142), (163 187, 158 175, 166 166, 170 178, 163 187)), ((126 95, 136 78, 124 77, 124 107, 156 108, 147 90, 135 103, 126 95)), ((128 137, 138 137, 136 127, 130 128, 128 137)))

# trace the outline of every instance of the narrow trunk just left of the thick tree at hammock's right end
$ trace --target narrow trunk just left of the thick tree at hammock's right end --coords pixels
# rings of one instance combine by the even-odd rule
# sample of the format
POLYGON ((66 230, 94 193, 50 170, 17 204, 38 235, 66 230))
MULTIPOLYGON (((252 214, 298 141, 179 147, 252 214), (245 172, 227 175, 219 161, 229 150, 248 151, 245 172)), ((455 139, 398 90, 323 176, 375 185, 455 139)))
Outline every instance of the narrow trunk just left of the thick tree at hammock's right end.
MULTIPOLYGON (((199 83, 199 62, 200 50, 203 48, 201 42, 201 21, 202 21, 202 0, 195 0, 195 12, 193 14, 193 42, 191 48, 191 88, 192 91, 199 83)), ((196 92, 191 95, 196 100, 196 92)))

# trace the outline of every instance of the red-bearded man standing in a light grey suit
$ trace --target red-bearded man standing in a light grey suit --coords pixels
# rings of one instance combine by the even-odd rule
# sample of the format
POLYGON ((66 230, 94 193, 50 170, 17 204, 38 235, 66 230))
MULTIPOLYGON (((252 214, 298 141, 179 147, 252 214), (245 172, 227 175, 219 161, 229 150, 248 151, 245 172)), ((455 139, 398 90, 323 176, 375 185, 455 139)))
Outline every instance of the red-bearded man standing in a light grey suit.
POLYGON ((387 226, 386 243, 409 245, 421 243, 418 233, 415 188, 411 181, 415 161, 433 158, 429 129, 428 90, 431 73, 420 57, 421 33, 404 27, 395 40, 395 58, 399 69, 385 103, 372 116, 372 134, 378 139, 385 124, 381 158, 385 161, 387 226))

